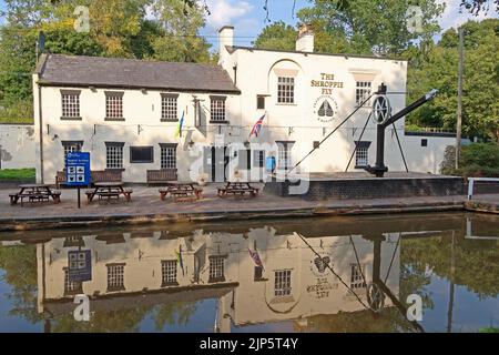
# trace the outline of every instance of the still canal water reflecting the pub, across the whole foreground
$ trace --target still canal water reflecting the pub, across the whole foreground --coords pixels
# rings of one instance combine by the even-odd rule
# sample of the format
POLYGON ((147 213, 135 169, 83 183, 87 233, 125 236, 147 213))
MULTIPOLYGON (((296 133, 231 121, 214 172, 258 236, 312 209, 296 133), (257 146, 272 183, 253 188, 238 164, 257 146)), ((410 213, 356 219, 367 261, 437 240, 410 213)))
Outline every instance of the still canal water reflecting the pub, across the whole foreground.
POLYGON ((0 241, 0 332, 499 327, 499 216, 150 224, 0 241))

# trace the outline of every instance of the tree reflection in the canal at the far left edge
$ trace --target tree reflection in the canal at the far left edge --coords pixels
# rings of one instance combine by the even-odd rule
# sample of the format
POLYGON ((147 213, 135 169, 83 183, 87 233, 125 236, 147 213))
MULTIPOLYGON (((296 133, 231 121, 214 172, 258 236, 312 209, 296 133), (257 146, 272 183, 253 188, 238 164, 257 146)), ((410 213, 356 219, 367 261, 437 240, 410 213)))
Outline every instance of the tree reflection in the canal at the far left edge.
POLYGON ((38 323, 43 316, 37 311, 37 247, 0 246, 0 268, 4 271, 2 282, 11 292, 2 295, 13 303, 9 315, 38 323))

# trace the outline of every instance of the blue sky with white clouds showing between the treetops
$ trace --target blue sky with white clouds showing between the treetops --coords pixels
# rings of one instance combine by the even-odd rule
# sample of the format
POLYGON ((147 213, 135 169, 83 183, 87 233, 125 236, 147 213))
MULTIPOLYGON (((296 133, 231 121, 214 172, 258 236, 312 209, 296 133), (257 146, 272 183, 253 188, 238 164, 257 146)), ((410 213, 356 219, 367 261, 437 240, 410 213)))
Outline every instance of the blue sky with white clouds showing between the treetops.
MULTIPOLYGON (((203 1, 203 0, 200 0, 203 1)), ((263 9, 265 0, 204 0, 210 8, 211 16, 206 17, 206 27, 201 31, 202 36, 216 48, 217 30, 225 24, 235 27, 235 44, 252 45, 262 29, 266 26, 266 11, 263 9)), ((459 13, 460 0, 437 0, 446 3, 446 10, 439 19, 442 31, 466 22, 468 19, 481 20, 485 18, 499 18, 493 11, 479 17, 473 17, 466 11, 459 13)), ((274 21, 284 21, 295 26, 298 21, 296 12, 310 4, 309 0, 296 0, 295 11, 293 11, 293 0, 267 0, 268 18, 274 21)), ((493 8, 493 4, 492 4, 493 8)), ((4 0, 0 0, 0 9, 4 9, 4 0)), ((0 19, 0 23, 2 23, 0 19)), ((436 37, 438 40, 438 36, 436 37)))

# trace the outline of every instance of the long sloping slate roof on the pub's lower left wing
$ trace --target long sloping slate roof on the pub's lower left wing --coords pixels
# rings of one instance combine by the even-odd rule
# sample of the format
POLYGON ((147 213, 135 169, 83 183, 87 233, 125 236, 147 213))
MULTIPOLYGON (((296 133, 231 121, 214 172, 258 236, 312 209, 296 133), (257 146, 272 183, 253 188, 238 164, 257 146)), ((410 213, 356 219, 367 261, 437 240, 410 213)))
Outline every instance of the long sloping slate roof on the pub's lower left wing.
POLYGON ((210 64, 43 54, 37 73, 42 85, 240 93, 224 69, 210 64))

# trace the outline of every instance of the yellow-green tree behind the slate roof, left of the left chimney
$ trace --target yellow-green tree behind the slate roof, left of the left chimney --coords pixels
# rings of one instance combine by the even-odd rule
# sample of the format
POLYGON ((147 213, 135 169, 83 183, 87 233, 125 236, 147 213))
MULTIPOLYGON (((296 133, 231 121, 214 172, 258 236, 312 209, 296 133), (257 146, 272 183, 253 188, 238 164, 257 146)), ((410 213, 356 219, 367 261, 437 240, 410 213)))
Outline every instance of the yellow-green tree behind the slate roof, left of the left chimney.
POLYGON ((153 40, 153 59, 179 62, 208 62, 210 43, 198 37, 205 26, 204 9, 185 7, 183 0, 155 0, 152 9, 164 36, 153 40), (187 11, 187 16, 185 16, 187 11))

